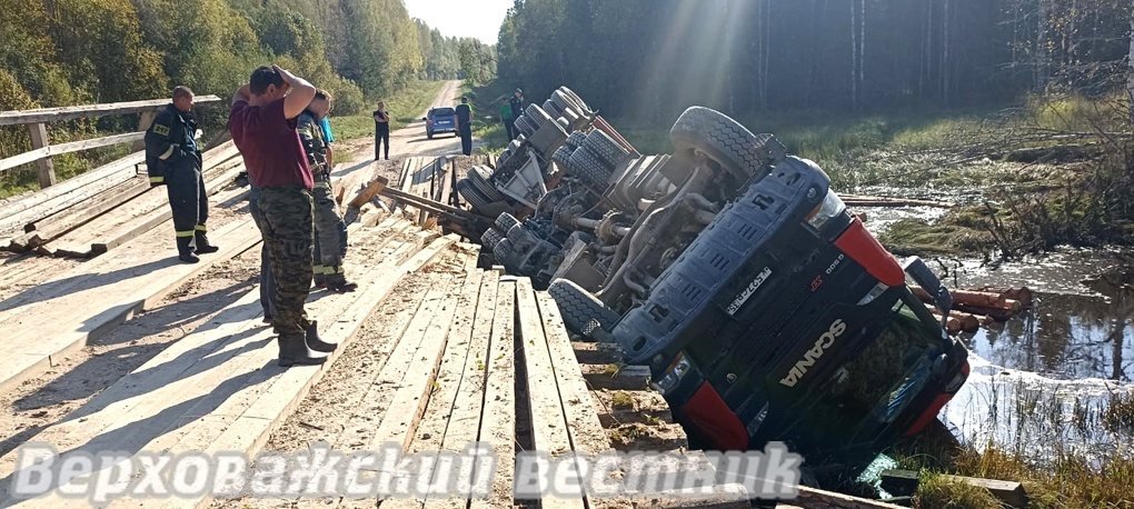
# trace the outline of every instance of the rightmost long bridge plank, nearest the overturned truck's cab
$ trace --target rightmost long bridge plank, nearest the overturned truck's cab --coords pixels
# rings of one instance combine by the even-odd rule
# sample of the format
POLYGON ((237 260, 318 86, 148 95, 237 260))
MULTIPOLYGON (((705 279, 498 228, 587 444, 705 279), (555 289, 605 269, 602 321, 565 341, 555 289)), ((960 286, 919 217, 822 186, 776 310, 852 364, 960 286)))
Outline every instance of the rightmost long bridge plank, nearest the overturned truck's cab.
POLYGON ((543 337, 548 340, 551 365, 556 371, 556 385, 562 402, 572 449, 583 455, 599 455, 610 450, 610 436, 602 429, 599 414, 583 379, 583 371, 575 359, 570 336, 564 326, 559 306, 545 291, 536 292, 543 337))

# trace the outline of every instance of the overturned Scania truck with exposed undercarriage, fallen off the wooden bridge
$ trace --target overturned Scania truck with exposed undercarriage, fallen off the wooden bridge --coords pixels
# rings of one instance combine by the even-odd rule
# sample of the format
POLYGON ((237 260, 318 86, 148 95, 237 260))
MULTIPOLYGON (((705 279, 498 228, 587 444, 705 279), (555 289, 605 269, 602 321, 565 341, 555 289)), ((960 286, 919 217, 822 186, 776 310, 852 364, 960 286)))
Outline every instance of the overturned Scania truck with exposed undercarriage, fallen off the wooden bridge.
POLYGON ((841 477, 966 380, 965 348, 906 278, 940 309, 948 290, 775 136, 694 107, 674 154, 642 155, 566 87, 516 125, 496 168, 457 184, 497 218, 485 251, 547 287, 573 332, 650 366, 693 447, 785 441, 841 477))

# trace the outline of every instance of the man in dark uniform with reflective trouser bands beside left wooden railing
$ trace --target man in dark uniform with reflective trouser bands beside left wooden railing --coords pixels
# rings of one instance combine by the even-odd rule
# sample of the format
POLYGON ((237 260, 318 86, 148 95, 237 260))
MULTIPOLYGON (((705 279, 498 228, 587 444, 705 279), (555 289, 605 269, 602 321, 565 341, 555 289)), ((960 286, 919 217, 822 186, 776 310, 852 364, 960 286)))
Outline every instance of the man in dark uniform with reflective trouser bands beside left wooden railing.
POLYGON ((209 219, 209 194, 201 177, 201 151, 197 150, 197 122, 193 111, 193 91, 174 88, 174 103, 168 105, 145 133, 145 162, 151 186, 166 186, 174 212, 177 236, 177 258, 197 263, 198 254, 215 253, 209 244, 205 221, 209 219))

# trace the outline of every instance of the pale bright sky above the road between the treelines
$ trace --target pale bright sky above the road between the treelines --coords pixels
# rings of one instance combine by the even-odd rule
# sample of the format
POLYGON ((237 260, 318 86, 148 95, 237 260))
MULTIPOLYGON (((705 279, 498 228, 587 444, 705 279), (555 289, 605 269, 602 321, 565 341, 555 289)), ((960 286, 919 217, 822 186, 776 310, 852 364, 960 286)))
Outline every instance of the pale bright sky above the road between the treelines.
POLYGON ((409 17, 447 37, 476 37, 496 44, 500 23, 513 0, 405 0, 409 17))

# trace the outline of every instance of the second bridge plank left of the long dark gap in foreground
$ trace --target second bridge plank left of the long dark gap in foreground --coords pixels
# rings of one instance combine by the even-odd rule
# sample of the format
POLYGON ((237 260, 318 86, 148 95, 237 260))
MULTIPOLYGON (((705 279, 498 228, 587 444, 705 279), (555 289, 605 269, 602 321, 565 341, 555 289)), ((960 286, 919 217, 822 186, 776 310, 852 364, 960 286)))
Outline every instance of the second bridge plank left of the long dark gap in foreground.
MULTIPOLYGON (((492 321, 496 316, 497 289, 500 285, 496 272, 481 272, 481 291, 476 302, 476 316, 472 324, 468 355, 465 357, 464 371, 460 375, 460 387, 449 414, 448 427, 441 442, 441 450, 449 452, 464 451, 469 443, 476 441, 484 405, 485 375, 489 365, 489 342, 492 336, 492 321)), ((472 472, 462 472, 456 481, 457 486, 471 486, 472 472)), ((468 503, 468 492, 460 499, 428 497, 425 507, 430 509, 458 509, 468 503)))

